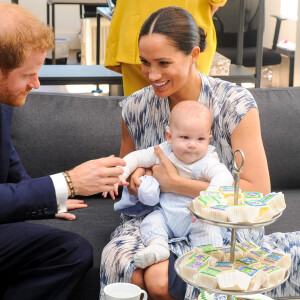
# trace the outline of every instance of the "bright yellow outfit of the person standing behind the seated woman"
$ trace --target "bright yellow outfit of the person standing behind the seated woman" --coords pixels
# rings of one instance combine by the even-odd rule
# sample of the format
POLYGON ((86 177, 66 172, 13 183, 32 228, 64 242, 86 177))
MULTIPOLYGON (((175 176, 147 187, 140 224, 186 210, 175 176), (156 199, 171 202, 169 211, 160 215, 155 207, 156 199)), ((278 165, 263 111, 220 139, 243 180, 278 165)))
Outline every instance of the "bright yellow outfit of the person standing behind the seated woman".
POLYGON ((166 6, 178 6, 189 11, 206 33, 207 47, 200 53, 197 69, 209 73, 216 51, 216 32, 211 5, 224 6, 227 0, 118 0, 106 44, 105 67, 123 74, 124 95, 149 85, 140 70, 138 37, 144 21, 154 11, 166 6))

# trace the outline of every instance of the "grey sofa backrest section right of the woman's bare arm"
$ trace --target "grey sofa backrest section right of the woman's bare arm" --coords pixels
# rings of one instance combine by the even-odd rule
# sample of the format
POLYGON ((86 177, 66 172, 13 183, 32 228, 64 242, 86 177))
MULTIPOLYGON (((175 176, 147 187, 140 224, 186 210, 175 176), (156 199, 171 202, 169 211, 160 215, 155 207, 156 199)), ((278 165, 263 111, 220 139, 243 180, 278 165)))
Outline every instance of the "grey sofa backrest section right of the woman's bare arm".
POLYGON ((300 87, 250 91, 258 104, 272 190, 299 188, 300 87))

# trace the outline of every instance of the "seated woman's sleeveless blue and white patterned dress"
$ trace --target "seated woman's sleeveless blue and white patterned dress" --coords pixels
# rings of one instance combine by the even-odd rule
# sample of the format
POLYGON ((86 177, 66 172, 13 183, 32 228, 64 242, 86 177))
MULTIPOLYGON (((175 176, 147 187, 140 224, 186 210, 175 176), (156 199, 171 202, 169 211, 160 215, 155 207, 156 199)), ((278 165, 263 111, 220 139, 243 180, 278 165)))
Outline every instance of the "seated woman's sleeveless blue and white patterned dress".
MULTIPOLYGON (((257 107, 246 89, 220 79, 200 74, 202 90, 198 101, 207 105, 213 116, 211 144, 215 146, 220 161, 232 171, 230 137, 244 115, 257 107)), ((158 98, 151 86, 146 87, 122 103, 122 116, 136 149, 144 149, 165 141, 170 109, 167 98, 158 98)), ((130 282, 135 270, 133 257, 144 248, 139 225, 141 219, 121 216, 121 225, 112 233, 104 248, 100 266, 101 294, 105 285, 112 282, 130 282)), ((223 228, 224 244, 230 245, 231 231, 223 228)), ((237 241, 252 241, 269 249, 278 248, 292 255, 290 278, 269 295, 283 297, 300 295, 300 232, 264 235, 264 228, 239 229, 237 241)), ((177 256, 190 250, 187 239, 173 239, 170 250, 177 256)), ((185 299, 195 299, 198 290, 188 286, 185 299)))

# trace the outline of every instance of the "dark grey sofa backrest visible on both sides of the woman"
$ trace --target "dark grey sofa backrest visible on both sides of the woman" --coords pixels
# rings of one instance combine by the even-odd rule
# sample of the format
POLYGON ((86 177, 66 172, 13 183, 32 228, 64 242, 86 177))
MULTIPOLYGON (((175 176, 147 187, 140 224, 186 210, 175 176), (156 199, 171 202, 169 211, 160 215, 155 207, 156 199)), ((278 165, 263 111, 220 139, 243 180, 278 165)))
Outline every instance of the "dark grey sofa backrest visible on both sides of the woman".
MULTIPOLYGON (((251 89, 258 103, 272 189, 300 186, 300 88, 251 89)), ((15 109, 13 143, 33 176, 119 155, 123 97, 31 93, 15 109)), ((247 160, 247 158, 246 158, 247 160)))

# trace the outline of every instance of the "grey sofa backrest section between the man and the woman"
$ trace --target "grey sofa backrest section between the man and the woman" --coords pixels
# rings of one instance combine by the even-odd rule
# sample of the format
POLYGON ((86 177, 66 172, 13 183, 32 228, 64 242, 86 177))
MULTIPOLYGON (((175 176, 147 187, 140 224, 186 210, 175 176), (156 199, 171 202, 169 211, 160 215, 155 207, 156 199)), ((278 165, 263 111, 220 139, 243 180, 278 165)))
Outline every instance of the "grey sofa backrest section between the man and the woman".
POLYGON ((16 108, 12 140, 32 177, 119 156, 122 97, 30 93, 16 108))

